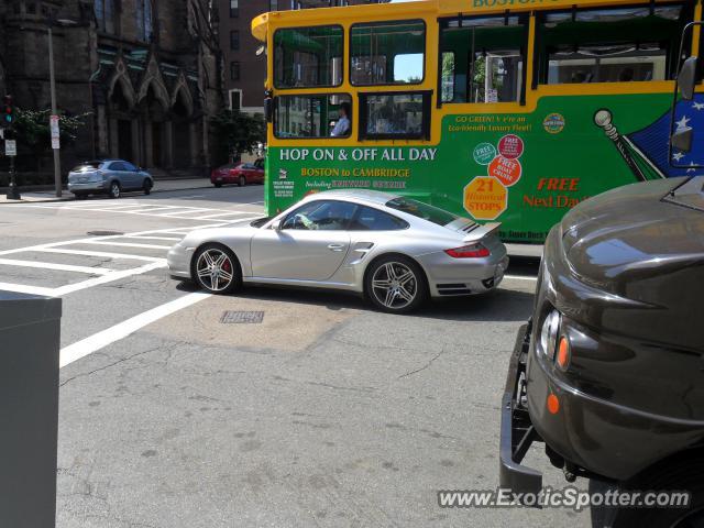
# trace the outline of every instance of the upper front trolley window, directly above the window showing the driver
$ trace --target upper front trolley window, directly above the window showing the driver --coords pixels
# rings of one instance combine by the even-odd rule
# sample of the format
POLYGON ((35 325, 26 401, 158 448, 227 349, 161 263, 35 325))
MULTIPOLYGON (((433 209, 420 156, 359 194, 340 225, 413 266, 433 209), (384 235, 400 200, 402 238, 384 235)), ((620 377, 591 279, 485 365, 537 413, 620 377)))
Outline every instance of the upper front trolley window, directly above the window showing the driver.
POLYGON ((282 29, 274 33, 276 88, 342 84, 343 30, 339 25, 282 29))

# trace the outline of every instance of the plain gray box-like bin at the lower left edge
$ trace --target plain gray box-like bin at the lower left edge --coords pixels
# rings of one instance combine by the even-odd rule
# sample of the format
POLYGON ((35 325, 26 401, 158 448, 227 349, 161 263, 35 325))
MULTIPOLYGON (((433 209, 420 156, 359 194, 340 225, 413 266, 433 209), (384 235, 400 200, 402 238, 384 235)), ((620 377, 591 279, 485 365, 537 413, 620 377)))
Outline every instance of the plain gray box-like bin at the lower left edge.
POLYGON ((0 292, 0 527, 56 526, 62 299, 0 292))

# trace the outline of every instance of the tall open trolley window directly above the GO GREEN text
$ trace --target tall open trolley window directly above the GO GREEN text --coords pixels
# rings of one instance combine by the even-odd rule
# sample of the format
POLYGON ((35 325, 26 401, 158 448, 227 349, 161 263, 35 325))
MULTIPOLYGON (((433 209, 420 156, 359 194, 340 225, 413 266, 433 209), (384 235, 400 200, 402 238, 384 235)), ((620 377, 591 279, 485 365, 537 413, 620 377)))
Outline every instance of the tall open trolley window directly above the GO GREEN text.
POLYGON ((442 21, 440 28, 442 102, 520 100, 526 46, 522 18, 454 19, 442 21))

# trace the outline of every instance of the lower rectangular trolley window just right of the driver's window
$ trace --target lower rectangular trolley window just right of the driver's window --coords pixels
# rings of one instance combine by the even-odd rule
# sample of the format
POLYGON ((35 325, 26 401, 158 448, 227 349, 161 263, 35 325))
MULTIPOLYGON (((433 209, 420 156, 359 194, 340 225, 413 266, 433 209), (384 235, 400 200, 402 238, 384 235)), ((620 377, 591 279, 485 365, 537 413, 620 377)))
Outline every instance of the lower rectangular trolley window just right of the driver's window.
POLYGON ((360 94, 360 139, 429 139, 430 92, 360 94))

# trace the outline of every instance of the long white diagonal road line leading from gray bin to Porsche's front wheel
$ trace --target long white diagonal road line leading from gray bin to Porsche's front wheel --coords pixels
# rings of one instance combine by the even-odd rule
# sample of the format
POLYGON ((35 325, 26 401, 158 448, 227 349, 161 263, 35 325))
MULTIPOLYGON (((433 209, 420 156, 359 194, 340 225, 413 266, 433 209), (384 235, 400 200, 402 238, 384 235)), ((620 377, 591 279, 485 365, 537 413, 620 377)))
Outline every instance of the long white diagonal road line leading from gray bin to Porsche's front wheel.
POLYGON ((98 333, 82 339, 76 343, 64 346, 59 352, 59 367, 63 369, 66 365, 74 363, 94 352, 114 343, 121 339, 127 338, 131 333, 136 332, 141 328, 151 324, 166 316, 169 316, 178 310, 187 308, 196 302, 201 301, 210 297, 210 294, 196 292, 185 295, 178 299, 166 302, 162 306, 157 306, 151 310, 147 310, 139 316, 134 316, 125 321, 122 321, 113 327, 102 330, 98 333))

